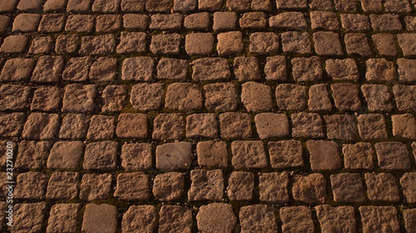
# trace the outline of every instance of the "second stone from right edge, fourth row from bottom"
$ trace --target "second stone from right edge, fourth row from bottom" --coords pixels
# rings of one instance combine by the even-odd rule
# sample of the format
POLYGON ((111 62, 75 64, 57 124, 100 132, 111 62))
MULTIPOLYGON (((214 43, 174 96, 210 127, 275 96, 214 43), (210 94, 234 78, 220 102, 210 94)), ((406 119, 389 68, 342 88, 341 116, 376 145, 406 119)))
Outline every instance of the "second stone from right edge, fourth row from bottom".
POLYGON ((358 115, 358 133, 363 140, 387 139, 384 116, 379 113, 358 115))

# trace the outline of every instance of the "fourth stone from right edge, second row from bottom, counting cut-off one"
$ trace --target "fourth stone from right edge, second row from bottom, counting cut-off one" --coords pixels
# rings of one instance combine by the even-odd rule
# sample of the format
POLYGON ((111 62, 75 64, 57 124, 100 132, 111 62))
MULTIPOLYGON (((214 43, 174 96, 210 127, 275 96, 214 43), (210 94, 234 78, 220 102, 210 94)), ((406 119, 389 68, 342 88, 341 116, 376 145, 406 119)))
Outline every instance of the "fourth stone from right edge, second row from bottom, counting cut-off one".
POLYGON ((324 203, 327 199, 327 180, 322 174, 314 173, 308 176, 295 175, 292 194, 295 201, 304 203, 324 203))

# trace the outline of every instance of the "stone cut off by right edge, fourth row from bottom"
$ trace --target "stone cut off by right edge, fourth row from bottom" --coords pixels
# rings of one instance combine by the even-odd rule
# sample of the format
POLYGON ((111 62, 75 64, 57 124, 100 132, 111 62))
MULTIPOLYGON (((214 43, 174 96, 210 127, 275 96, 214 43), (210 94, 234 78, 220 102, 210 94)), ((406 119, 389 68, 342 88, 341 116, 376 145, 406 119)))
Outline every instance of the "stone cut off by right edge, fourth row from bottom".
POLYGON ((392 115, 393 136, 416 140, 416 119, 410 114, 392 115))

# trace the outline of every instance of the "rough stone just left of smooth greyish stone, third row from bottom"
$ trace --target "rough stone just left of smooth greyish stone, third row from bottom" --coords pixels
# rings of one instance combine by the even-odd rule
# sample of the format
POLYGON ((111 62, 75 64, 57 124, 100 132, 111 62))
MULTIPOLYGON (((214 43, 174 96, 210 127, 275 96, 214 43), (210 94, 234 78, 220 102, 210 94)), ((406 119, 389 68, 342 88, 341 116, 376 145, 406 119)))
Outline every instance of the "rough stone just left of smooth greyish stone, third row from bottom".
POLYGON ((153 165, 152 145, 128 143, 121 147, 121 166, 127 171, 150 169, 153 165))

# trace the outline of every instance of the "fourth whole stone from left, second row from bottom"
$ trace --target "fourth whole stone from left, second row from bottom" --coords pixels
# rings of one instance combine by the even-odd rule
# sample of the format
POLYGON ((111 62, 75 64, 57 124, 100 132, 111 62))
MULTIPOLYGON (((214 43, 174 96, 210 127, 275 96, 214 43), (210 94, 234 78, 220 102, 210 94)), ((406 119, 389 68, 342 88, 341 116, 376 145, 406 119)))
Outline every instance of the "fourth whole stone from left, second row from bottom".
POLYGON ((117 176, 114 197, 123 201, 146 201, 150 198, 149 176, 144 172, 121 173, 117 176))

